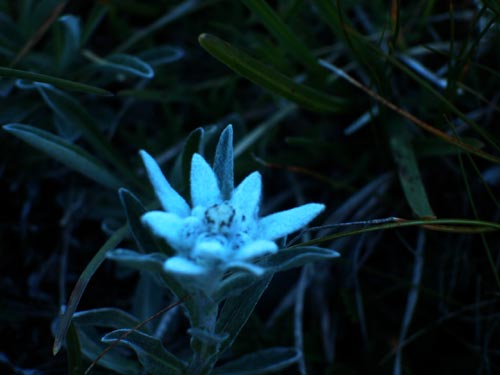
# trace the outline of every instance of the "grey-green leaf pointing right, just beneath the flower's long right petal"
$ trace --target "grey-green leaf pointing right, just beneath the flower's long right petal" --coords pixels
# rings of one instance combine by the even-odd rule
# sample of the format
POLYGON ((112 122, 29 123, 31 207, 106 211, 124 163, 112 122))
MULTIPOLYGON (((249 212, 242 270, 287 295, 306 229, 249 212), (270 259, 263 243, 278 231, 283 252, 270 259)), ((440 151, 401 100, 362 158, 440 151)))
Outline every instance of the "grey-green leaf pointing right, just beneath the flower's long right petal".
POLYGON ((314 246, 298 246, 281 249, 276 254, 263 258, 257 265, 266 269, 266 272, 282 272, 291 268, 300 267, 306 263, 331 260, 340 254, 334 250, 314 246))

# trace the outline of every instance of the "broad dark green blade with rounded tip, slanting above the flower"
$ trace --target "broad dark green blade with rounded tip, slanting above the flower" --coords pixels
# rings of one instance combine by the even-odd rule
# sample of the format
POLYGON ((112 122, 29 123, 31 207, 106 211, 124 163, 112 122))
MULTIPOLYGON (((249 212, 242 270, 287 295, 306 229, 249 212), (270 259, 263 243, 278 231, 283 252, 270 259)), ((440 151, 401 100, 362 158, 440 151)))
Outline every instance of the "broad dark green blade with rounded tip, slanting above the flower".
POLYGON ((304 108, 333 113, 347 110, 345 100, 299 84, 216 36, 201 34, 198 41, 207 52, 242 77, 304 108))

